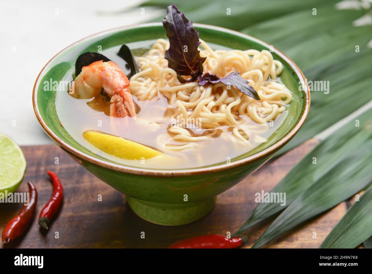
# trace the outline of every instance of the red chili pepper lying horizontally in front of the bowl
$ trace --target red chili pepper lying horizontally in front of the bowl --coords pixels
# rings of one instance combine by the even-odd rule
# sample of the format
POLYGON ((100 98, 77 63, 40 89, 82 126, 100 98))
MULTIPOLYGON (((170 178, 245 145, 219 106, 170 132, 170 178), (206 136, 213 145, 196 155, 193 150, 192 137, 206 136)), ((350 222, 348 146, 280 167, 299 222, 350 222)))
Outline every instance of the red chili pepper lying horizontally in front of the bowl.
POLYGON ((219 234, 193 237, 174 243, 169 248, 238 248, 246 241, 245 237, 228 239, 219 234))

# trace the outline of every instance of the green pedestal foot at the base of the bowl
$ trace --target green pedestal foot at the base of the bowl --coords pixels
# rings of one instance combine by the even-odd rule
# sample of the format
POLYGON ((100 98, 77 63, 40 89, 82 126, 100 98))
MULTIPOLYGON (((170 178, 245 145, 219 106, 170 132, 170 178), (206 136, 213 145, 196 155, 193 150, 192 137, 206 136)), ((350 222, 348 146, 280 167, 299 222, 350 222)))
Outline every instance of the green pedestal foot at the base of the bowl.
POLYGON ((182 204, 147 202, 126 196, 129 207, 142 219, 163 226, 179 226, 192 223, 208 214, 216 198, 182 204))

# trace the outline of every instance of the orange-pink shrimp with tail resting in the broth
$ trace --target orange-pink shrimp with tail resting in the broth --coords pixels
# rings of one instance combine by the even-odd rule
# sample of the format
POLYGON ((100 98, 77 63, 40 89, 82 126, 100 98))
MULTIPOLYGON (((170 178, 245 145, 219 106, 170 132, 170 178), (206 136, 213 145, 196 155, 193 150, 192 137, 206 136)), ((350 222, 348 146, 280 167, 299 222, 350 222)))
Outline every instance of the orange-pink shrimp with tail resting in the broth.
POLYGON ((102 88, 111 98, 110 116, 136 116, 129 80, 114 62, 94 62, 81 69, 75 78, 74 92, 70 95, 77 99, 88 99, 98 95, 102 88))

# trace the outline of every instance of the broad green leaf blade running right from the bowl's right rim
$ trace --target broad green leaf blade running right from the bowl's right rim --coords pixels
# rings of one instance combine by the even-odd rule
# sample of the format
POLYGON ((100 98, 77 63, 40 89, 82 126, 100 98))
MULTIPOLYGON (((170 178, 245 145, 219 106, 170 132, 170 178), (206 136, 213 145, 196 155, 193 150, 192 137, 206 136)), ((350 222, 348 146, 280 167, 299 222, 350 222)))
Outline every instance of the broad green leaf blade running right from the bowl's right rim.
POLYGON ((356 57, 345 55, 343 58, 340 62, 333 63, 333 67, 320 69, 319 71, 324 72, 321 78, 312 78, 316 79, 315 81, 330 81, 330 93, 311 93, 310 112, 304 126, 275 157, 302 144, 372 100, 372 81, 371 77, 367 76, 370 68, 366 62, 372 62, 372 49, 359 53, 356 57))

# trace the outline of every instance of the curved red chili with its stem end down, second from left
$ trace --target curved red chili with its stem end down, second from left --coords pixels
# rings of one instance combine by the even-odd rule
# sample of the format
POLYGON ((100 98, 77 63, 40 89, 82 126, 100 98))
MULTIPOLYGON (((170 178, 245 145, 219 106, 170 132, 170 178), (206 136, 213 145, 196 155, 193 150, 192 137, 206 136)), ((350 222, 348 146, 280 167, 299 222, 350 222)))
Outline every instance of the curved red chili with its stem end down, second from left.
POLYGON ((63 200, 63 188, 61 181, 53 171, 47 171, 53 183, 53 194, 49 202, 43 207, 40 212, 38 223, 41 227, 48 229, 48 224, 55 213, 57 213, 63 200))

